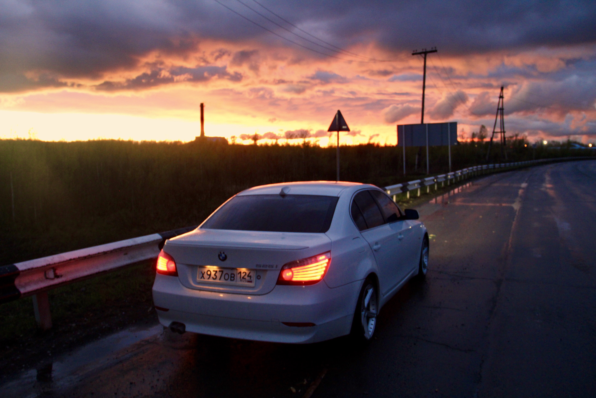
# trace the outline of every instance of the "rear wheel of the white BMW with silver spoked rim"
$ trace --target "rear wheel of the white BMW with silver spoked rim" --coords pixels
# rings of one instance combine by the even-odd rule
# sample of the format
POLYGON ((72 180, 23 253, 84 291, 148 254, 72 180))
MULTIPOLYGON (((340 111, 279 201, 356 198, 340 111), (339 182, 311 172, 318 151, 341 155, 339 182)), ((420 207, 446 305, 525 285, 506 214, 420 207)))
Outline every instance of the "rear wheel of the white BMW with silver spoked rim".
POLYGON ((378 291, 373 280, 367 279, 362 285, 352 322, 352 335, 358 340, 373 338, 377 326, 378 291))

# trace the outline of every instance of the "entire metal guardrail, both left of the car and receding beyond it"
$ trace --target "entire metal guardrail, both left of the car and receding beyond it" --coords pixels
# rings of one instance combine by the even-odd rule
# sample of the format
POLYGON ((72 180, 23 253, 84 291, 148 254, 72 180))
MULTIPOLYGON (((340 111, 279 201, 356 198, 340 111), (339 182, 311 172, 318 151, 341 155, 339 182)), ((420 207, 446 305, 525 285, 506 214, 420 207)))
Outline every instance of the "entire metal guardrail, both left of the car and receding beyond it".
MULTIPOLYGON (((464 178, 492 172, 494 169, 513 168, 517 166, 530 166, 545 162, 560 162, 565 160, 594 159, 590 157, 541 159, 538 161, 495 163, 464 168, 435 177, 422 180, 408 181, 384 187, 384 190, 397 201, 398 195, 410 197, 410 192, 416 191, 417 196, 426 187, 434 185, 434 190, 454 183, 464 178)), ((157 258, 166 239, 182 235, 194 230, 197 226, 185 227, 162 233, 154 233, 119 242, 106 243, 105 245, 79 249, 35 260, 23 261, 0 267, 0 304, 17 300, 20 297, 33 295, 33 309, 35 319, 42 329, 52 326, 49 310, 48 290, 61 285, 66 285, 76 280, 96 276, 98 274, 119 269, 120 267, 138 263, 139 261, 157 258)))

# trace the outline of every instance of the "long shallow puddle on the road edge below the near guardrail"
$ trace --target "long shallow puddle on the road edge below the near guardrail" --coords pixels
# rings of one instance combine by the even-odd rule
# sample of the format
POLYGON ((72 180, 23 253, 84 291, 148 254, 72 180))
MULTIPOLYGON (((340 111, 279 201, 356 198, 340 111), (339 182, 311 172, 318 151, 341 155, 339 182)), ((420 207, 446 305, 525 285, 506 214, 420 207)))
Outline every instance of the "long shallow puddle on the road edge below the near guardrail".
POLYGON ((71 353, 58 357, 54 362, 24 371, 15 380, 0 385, 0 396, 33 398, 45 394, 48 390, 56 391, 70 387, 79 379, 73 374, 81 368, 86 366, 93 368, 95 363, 105 362, 117 351, 162 332, 162 325, 149 328, 135 327, 83 345, 71 353))

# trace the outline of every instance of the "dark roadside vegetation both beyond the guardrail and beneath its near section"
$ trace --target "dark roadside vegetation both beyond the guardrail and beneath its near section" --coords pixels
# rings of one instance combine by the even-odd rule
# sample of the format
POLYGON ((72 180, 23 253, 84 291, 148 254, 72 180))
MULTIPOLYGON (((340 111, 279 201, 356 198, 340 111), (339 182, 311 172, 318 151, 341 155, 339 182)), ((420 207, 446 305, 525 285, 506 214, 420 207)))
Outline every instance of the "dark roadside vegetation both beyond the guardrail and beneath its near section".
MULTIPOLYGON (((533 147, 514 137, 507 161, 596 155, 572 144, 533 147)), ((452 146, 452 170, 486 163, 487 149, 488 142, 479 140, 452 146)), ((383 187, 426 177, 426 149, 406 148, 406 175, 401 147, 364 144, 340 151, 344 181, 383 187)), ((500 156, 493 144, 491 162, 500 156)), ((431 147, 429 159, 431 174, 448 171, 447 147, 431 147)), ((0 140, 0 264, 199 224, 243 189, 335 175, 336 148, 306 140, 227 146, 0 140)), ((126 325, 156 322, 153 267, 145 262, 50 291, 54 328, 45 333, 36 331, 31 298, 0 305, 0 353, 15 361, 6 364, 10 372, 126 325), (56 348, 36 348, 48 345, 56 348)))

